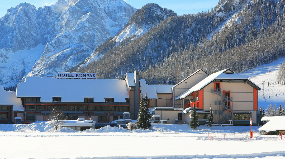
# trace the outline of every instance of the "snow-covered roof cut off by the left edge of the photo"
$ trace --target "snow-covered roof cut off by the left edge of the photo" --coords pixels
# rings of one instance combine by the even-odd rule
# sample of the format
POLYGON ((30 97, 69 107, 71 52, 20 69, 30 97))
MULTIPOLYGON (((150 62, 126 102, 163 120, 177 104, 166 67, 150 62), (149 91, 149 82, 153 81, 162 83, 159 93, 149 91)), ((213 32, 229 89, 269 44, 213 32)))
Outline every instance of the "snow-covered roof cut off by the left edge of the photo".
POLYGON ((13 105, 13 111, 25 110, 21 99, 16 97, 16 92, 6 91, 2 85, 0 85, 0 105, 13 105))

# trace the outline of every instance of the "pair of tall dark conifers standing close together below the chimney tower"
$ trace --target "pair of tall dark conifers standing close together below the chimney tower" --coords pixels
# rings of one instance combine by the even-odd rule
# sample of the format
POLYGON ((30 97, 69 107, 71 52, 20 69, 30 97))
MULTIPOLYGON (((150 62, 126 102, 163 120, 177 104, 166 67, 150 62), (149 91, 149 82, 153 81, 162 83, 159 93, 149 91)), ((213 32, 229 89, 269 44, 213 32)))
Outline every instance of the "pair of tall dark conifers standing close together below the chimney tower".
POLYGON ((150 116, 150 108, 148 104, 148 98, 147 95, 145 95, 145 98, 143 98, 143 95, 141 94, 140 99, 140 109, 138 113, 138 121, 137 121, 137 127, 149 129, 151 126, 150 121, 152 120, 150 116))

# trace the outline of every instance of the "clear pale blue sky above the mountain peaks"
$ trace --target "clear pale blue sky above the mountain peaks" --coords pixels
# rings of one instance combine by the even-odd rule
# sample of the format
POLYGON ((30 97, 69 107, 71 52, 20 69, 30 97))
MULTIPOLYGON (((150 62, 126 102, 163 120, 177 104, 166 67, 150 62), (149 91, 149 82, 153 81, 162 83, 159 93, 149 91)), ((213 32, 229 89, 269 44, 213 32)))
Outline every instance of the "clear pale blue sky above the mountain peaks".
MULTIPOLYGON (((38 7, 44 7, 45 5, 55 4, 58 0, 3 0, 0 3, 0 17, 3 17, 7 9, 11 7, 16 7, 21 2, 28 2, 34 5, 37 9, 38 7)), ((139 9, 147 3, 157 3, 161 7, 171 9, 175 11, 178 15, 197 13, 198 11, 208 11, 211 7, 215 7, 219 0, 124 0, 131 6, 139 9)))

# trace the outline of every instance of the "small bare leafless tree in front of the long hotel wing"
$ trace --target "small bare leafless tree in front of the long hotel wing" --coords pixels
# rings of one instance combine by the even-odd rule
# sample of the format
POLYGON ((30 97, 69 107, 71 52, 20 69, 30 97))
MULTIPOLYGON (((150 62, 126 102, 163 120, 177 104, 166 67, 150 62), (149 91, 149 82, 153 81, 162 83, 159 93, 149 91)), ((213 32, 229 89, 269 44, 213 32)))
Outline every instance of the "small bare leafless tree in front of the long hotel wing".
POLYGON ((51 119, 49 121, 50 124, 54 126, 57 130, 62 124, 65 123, 66 116, 62 113, 60 109, 54 107, 52 109, 51 119))

